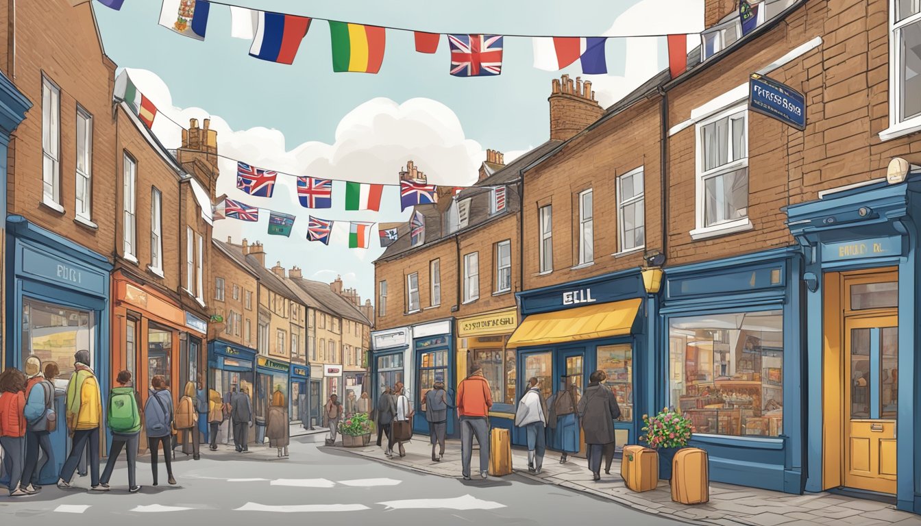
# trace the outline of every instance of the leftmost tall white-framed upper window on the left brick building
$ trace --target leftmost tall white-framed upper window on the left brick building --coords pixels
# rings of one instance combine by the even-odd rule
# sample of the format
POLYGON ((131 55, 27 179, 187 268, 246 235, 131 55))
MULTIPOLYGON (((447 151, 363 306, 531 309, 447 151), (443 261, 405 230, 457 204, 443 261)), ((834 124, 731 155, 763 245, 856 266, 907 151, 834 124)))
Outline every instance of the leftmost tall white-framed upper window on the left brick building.
POLYGON ((61 88, 58 88, 47 76, 41 76, 41 158, 41 203, 63 213, 64 206, 61 205, 61 88))

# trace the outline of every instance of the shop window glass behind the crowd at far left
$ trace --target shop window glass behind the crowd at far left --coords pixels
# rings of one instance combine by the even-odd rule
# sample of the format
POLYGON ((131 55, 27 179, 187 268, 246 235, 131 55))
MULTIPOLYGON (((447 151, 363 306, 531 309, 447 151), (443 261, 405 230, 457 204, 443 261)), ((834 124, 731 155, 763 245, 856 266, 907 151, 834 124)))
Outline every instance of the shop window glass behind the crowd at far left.
POLYGON ((20 363, 26 363, 26 358, 33 355, 42 362, 56 362, 61 370, 57 383, 66 384, 74 372, 76 351, 86 349, 90 360, 96 356, 95 331, 96 320, 91 311, 23 299, 20 363))

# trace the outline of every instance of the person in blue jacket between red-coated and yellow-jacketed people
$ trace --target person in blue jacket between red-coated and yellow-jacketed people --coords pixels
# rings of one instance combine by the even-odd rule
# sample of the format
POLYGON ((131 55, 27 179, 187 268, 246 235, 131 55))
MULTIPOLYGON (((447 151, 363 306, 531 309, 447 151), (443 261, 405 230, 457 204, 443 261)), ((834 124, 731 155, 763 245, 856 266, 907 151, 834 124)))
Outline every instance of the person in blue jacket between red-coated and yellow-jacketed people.
MULTIPOLYGON (((48 365, 52 365, 49 362, 48 365)), ((57 366, 54 366, 55 369, 57 366)), ((55 372, 56 374, 56 372, 55 372)), ((57 416, 54 415, 54 385, 51 381, 45 379, 44 373, 41 372, 41 359, 39 357, 26 358, 26 462, 22 468, 22 490, 29 495, 36 493, 41 489, 37 485, 41 469, 45 463, 51 460, 54 462, 54 453, 52 450, 52 440, 50 438, 49 420, 53 424, 57 423, 57 416), (39 466, 39 452, 45 454, 44 462, 39 466)))

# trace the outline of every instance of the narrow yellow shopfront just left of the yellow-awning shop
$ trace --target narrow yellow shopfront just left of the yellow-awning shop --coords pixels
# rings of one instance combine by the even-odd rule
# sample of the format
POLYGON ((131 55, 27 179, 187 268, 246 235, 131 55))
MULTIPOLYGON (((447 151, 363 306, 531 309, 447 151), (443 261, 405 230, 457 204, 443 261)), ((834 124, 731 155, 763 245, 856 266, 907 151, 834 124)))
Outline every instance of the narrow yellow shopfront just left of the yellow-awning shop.
POLYGON ((459 318, 457 327, 458 382, 466 378, 473 364, 480 364, 493 396, 492 425, 512 428, 518 401, 518 368, 515 349, 507 343, 518 327, 518 309, 459 318))

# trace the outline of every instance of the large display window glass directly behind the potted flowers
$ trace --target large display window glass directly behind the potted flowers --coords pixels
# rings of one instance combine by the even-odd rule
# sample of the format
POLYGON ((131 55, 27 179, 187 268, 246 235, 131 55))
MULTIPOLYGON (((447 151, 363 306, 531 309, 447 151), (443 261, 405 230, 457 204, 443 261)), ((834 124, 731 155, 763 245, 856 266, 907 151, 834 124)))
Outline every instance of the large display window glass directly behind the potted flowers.
POLYGON ((783 433, 783 312, 670 321, 670 402, 697 433, 783 433))

